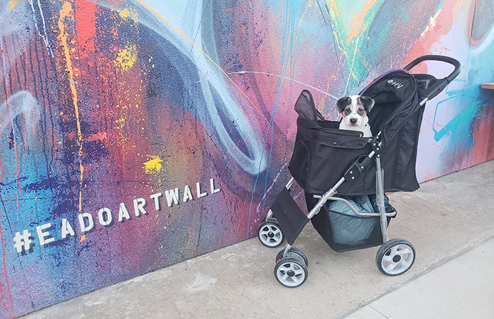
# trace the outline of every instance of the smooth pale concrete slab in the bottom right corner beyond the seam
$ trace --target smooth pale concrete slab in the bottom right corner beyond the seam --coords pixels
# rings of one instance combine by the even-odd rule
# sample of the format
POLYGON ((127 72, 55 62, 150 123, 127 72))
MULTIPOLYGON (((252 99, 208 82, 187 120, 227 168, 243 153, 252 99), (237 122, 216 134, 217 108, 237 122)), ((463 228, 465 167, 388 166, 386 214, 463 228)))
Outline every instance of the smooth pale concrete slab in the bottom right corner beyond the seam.
POLYGON ((494 318, 494 238, 345 319, 494 318))

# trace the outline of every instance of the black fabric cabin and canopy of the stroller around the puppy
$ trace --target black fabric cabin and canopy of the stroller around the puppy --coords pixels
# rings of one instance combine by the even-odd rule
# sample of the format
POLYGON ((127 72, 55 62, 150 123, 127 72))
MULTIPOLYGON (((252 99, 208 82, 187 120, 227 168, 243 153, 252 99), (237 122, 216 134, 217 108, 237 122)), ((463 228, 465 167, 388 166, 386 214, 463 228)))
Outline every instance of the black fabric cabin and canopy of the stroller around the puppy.
MULTIPOLYGON (((417 83, 408 71, 397 70, 382 75, 360 95, 375 100, 369 113, 373 135, 381 133, 381 163, 384 191, 415 191, 417 143, 423 115, 417 83)), ((322 194, 344 176, 347 168, 362 155, 372 151, 371 139, 356 131, 339 130, 338 121, 318 119, 309 91, 302 91, 295 110, 297 137, 288 169, 308 193, 322 194)), ((342 195, 375 193, 374 161, 355 180, 338 188, 342 195)))

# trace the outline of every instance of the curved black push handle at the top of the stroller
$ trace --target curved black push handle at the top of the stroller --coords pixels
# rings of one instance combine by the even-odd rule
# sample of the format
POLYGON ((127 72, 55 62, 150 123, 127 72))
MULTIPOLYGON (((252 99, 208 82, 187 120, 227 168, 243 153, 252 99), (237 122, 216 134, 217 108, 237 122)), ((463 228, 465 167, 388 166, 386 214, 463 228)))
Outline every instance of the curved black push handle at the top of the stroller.
POLYGON ((417 75, 415 78, 419 80, 419 82, 425 82, 425 96, 427 99, 432 99, 432 97, 435 97, 441 91, 444 90, 444 88, 449 84, 449 82, 452 82, 454 78, 460 74, 461 71, 461 64, 458 62, 458 60, 454 58, 450 58, 449 56, 434 56, 434 55, 429 55, 429 56, 420 56, 419 58, 416 58, 412 62, 408 63, 404 69, 406 71, 410 71, 413 67, 415 67, 417 64, 423 62, 423 61, 428 61, 428 60, 433 60, 433 61, 441 61, 441 62, 446 62, 449 64, 452 64, 454 66, 454 70, 447 75, 446 78, 442 79, 436 79, 434 76, 426 74, 426 75, 417 75))

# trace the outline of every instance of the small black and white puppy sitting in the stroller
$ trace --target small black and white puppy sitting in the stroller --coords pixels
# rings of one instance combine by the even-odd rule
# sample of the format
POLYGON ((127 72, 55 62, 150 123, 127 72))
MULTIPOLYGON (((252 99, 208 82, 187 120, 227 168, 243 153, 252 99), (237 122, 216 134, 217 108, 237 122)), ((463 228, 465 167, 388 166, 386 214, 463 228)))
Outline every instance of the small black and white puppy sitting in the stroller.
POLYGON ((336 107, 343 116, 340 129, 361 131, 363 137, 372 137, 367 113, 371 112, 373 106, 374 100, 367 96, 351 95, 338 99, 336 107))

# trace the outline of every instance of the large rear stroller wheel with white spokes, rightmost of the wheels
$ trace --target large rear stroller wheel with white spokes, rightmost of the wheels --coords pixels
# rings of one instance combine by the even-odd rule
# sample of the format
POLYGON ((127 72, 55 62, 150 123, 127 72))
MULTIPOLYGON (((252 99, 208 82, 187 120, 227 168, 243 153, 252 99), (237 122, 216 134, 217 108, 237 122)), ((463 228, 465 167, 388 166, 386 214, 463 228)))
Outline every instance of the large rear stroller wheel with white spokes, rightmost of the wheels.
POLYGON ((415 261, 415 248, 405 239, 386 241, 375 256, 375 264, 383 274, 397 276, 408 271, 415 261))

